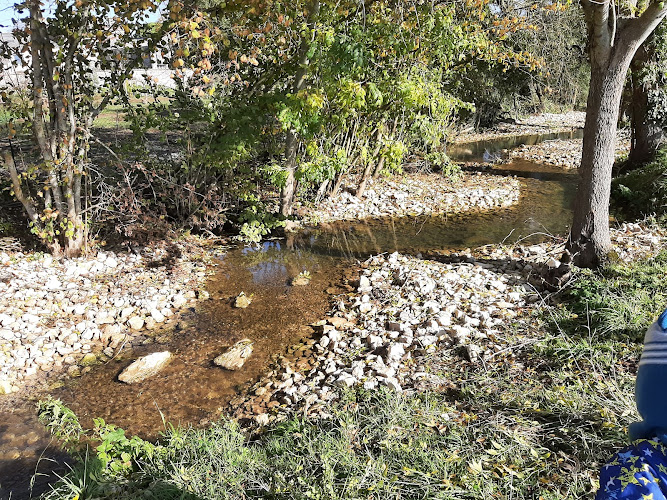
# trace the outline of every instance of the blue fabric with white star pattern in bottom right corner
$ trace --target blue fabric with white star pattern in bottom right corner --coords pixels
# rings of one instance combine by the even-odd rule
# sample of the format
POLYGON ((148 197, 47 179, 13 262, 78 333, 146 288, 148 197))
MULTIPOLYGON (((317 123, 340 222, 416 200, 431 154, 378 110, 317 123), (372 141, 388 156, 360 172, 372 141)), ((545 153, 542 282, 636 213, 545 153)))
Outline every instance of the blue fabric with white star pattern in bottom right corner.
POLYGON ((667 447, 662 439, 641 439, 602 467, 595 500, 667 500, 667 447))

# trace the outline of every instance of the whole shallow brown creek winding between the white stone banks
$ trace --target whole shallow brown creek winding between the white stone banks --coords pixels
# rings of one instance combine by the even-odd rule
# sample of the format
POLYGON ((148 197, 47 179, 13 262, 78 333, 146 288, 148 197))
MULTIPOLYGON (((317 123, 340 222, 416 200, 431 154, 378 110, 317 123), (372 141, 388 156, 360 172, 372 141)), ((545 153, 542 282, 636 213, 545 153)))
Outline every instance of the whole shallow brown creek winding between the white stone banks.
MULTIPOLYGON (((508 147, 506 141, 499 146, 508 147)), ((479 159, 485 152, 488 144, 464 148, 456 159, 479 159), (473 149, 475 154, 467 153, 473 149)), ((102 417, 130 435, 154 439, 164 430, 163 417, 174 424, 205 425, 245 384, 267 370, 272 355, 312 335, 307 325, 324 317, 331 297, 345 291, 340 288, 342 276, 357 260, 382 252, 419 254, 524 238, 533 241, 565 232, 575 174, 522 160, 486 172, 520 177, 519 203, 488 213, 338 222, 259 248, 230 250, 217 262, 209 281, 211 299, 186 318, 187 326, 168 337, 127 346, 113 360, 50 392, 79 415, 84 427, 92 424, 93 417, 102 417), (291 286, 290 279, 303 270, 311 273, 311 283, 291 286), (241 291, 253 294, 252 304, 244 310, 232 307, 241 291), (255 351, 242 370, 229 372, 212 365, 226 346, 244 337, 255 342, 255 351), (131 360, 161 350, 175 356, 159 376, 131 386, 117 381, 131 360)), ((33 399, 40 395, 44 392, 33 399)), ((49 446, 35 417, 34 400, 5 399, 0 401, 0 413, 0 499, 29 498, 29 480, 36 467, 52 471, 47 459, 62 460, 62 454, 49 446)), ((50 481, 53 476, 38 476, 33 494, 50 481)))

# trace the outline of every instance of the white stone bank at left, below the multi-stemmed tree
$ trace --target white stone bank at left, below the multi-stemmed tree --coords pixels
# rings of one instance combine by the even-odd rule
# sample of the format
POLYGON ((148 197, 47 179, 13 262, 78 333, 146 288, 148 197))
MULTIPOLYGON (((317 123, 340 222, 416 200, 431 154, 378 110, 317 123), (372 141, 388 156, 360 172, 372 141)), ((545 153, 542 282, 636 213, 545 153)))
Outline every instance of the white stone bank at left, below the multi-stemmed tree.
POLYGON ((0 394, 38 372, 74 365, 96 347, 164 324, 198 297, 204 264, 149 268, 141 255, 65 261, 0 253, 0 394))

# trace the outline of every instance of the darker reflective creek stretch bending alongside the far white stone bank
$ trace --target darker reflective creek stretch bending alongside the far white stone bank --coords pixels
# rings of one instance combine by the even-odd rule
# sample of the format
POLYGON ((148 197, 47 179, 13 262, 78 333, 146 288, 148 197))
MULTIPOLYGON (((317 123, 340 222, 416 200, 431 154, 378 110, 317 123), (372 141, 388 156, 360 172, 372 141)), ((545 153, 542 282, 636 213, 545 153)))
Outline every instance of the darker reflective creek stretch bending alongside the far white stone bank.
POLYGON ((382 252, 417 254, 489 243, 537 242, 546 235, 565 234, 572 218, 576 175, 530 162, 516 162, 509 169, 503 166, 498 174, 507 175, 508 170, 526 175, 521 179, 521 199, 512 207, 324 224, 289 235, 286 247, 312 265, 312 254, 363 259, 382 252))

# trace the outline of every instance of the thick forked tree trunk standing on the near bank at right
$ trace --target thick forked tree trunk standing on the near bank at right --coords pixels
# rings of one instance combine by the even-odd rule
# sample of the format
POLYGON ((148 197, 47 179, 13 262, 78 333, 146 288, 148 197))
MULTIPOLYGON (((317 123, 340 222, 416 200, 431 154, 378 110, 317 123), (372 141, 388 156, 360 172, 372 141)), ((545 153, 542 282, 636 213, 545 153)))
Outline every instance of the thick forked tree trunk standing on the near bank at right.
POLYGON ((597 267, 611 250, 609 195, 625 76, 637 49, 667 8, 654 3, 639 18, 617 20, 610 3, 582 0, 581 4, 588 25, 591 79, 567 250, 577 266, 597 267))

